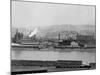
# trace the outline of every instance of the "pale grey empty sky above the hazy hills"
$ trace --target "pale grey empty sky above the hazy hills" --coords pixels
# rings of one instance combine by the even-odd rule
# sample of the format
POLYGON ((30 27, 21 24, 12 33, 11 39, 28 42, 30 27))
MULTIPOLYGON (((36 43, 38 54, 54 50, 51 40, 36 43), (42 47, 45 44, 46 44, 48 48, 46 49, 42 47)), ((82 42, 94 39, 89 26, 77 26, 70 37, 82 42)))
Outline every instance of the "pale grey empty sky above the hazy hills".
POLYGON ((12 26, 95 25, 95 6, 12 1, 12 26))

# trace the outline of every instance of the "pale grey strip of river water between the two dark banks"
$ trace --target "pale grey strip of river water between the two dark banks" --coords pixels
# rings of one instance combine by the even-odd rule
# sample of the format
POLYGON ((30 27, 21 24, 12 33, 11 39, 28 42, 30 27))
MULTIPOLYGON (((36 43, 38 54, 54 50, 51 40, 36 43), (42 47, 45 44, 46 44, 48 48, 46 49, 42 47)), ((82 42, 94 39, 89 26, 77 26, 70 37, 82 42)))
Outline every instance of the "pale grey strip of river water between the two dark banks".
POLYGON ((30 50, 12 49, 12 59, 16 60, 82 60, 85 63, 95 62, 94 50, 30 50))

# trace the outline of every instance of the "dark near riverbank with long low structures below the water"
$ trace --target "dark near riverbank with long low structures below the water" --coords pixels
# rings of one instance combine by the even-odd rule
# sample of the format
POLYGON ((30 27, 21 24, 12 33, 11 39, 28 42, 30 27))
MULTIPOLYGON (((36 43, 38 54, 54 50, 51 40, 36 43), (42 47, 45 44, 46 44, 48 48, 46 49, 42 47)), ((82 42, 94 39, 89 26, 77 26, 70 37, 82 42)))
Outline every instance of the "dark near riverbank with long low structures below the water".
POLYGON ((94 66, 82 65, 82 61, 11 60, 12 74, 91 70, 91 69, 95 69, 95 65, 94 66))

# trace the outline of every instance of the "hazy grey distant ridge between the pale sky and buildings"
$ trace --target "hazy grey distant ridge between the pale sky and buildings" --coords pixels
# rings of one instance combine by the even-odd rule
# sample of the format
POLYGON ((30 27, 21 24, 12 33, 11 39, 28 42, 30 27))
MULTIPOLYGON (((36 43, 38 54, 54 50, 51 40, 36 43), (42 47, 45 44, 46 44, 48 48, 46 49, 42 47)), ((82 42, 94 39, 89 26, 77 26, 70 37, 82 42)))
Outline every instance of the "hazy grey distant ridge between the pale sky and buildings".
MULTIPOLYGON (((41 26, 37 27, 39 32, 38 36, 57 36, 58 33, 64 32, 64 31, 75 31, 78 32, 81 35, 95 35, 95 25, 51 25, 51 26, 41 26)), ((12 36, 16 32, 15 27, 12 27, 12 36)), ((30 31, 32 31, 34 27, 32 28, 19 28, 18 30, 25 35, 27 35, 30 31)))

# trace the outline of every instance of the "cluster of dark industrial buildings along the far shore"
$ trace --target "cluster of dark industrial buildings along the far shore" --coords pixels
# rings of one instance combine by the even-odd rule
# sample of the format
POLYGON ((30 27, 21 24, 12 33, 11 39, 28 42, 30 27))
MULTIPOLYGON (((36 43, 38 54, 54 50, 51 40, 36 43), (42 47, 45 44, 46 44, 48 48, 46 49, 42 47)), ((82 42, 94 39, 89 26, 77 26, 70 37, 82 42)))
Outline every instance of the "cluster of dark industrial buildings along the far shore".
POLYGON ((12 38, 13 43, 20 44, 31 44, 36 42, 48 42, 48 43, 58 43, 58 45, 75 45, 75 46, 94 46, 95 47, 95 36, 94 35, 80 35, 77 32, 67 31, 66 33, 59 33, 57 38, 39 38, 37 37, 37 29, 31 32, 29 35, 24 36, 22 32, 16 30, 15 36, 12 38))

